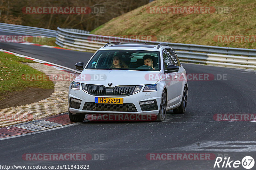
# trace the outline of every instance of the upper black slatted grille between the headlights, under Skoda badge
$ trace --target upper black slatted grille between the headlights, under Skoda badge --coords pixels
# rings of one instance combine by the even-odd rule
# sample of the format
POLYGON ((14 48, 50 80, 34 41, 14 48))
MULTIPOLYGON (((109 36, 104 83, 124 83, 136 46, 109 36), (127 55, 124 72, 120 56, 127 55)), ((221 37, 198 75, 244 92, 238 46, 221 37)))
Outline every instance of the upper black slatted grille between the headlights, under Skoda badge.
POLYGON ((101 85, 87 84, 88 93, 94 96, 129 96, 132 94, 135 86, 117 86, 106 88, 101 85))

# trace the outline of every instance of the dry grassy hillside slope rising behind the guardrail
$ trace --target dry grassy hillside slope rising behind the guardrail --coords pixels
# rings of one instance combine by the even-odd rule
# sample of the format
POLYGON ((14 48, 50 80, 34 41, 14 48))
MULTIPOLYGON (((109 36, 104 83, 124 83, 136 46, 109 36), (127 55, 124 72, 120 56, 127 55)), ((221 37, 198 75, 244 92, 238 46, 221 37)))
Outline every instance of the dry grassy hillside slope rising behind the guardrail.
POLYGON ((256 48, 256 3, 255 0, 157 0, 113 18, 91 34, 150 35, 157 37, 154 40, 173 43, 256 48), (210 10, 188 14, 173 13, 172 9, 172 13, 161 13, 157 10, 163 8, 156 8, 159 6, 174 7, 176 11, 177 7, 184 11, 190 6, 210 10))

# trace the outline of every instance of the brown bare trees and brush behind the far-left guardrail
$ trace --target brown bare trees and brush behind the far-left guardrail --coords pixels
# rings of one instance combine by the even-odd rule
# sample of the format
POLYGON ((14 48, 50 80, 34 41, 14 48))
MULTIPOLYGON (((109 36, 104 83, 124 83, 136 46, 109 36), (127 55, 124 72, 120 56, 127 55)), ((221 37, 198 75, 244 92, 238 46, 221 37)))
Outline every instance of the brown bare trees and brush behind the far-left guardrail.
POLYGON ((58 26, 91 31, 112 18, 145 5, 149 0, 0 0, 0 22, 48 29, 58 26), (87 14, 27 14, 24 7, 89 7, 87 14))

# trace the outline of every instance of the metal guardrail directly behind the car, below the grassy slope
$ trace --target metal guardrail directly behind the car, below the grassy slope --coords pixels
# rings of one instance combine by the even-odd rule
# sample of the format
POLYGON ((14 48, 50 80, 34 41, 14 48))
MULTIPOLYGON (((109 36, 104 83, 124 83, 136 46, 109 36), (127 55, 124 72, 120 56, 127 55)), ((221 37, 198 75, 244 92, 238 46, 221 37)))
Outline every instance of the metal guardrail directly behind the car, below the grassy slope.
MULTIPOLYGON (((120 37, 89 34, 78 29, 57 28, 56 44, 78 51, 95 52, 108 42, 124 42, 127 44, 164 42, 127 39, 120 37)), ((194 44, 166 43, 171 46, 183 62, 207 65, 256 69, 256 49, 231 48, 219 46, 203 46, 194 44), (181 51, 180 51, 181 50, 181 51)))

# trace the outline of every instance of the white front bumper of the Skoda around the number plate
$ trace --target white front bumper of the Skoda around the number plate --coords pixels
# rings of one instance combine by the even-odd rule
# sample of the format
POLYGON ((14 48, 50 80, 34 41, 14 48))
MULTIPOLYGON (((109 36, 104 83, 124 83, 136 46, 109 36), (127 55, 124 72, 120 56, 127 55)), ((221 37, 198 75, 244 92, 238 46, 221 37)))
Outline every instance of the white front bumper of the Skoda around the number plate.
POLYGON ((160 108, 162 91, 143 92, 144 86, 142 87, 140 92, 130 95, 130 96, 94 96, 94 95, 90 95, 90 94, 84 92, 83 90, 69 89, 68 109, 72 114, 81 114, 81 113, 86 113, 86 114, 108 113, 108 114, 110 114, 110 113, 115 113, 115 114, 154 114, 154 115, 157 115, 159 112, 159 108, 160 108), (93 110, 92 108, 95 108, 95 105, 96 105, 95 97, 123 98, 124 104, 123 104, 123 106, 121 106, 122 104, 108 104, 108 106, 111 105, 110 107, 112 107, 114 105, 115 109, 112 108, 111 111, 99 110, 99 108, 104 109, 106 104, 103 104, 104 107, 102 105, 100 107, 98 107, 99 106, 99 104, 98 104, 96 106, 96 108, 98 108, 98 110, 97 109, 93 110), (81 100, 81 103, 72 102, 70 105, 70 98, 81 100), (140 107, 139 102, 151 101, 151 100, 156 102, 156 104, 157 104, 156 107, 152 107, 152 104, 151 104, 151 106, 150 106, 150 104, 145 104, 143 107, 140 107), (74 104, 77 104, 77 105, 74 105, 74 104), (124 111, 124 109, 120 109, 123 107, 129 107, 130 109, 129 109, 129 111, 124 111), (142 110, 145 110, 145 108, 148 108, 149 111, 142 111, 141 108, 142 108, 142 110))

